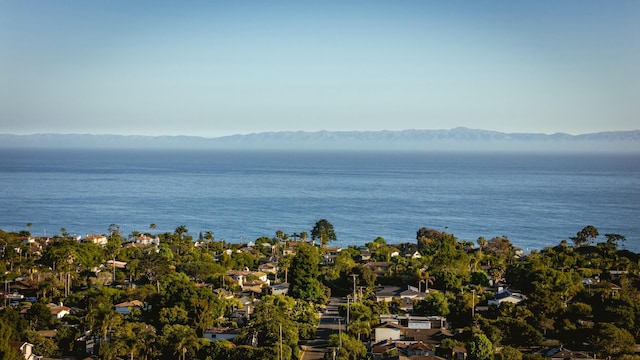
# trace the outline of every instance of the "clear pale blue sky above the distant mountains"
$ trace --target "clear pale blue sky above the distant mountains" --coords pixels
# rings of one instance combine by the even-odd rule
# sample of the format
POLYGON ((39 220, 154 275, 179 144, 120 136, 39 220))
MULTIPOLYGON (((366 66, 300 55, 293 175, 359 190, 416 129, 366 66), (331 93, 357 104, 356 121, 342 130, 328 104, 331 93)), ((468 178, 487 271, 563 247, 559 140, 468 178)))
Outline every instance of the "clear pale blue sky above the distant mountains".
POLYGON ((0 0, 0 133, 640 128, 640 1, 0 0))

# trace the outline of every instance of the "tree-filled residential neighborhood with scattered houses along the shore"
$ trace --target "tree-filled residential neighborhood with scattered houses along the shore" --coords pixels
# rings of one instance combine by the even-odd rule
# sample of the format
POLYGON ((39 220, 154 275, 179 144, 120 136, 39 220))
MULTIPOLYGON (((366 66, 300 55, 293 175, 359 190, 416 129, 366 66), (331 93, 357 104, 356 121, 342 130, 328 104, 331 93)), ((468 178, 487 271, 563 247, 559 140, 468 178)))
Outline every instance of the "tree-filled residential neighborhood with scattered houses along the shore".
MULTIPOLYGON (((638 254, 500 237, 0 232, 3 359, 637 357, 638 254), (292 239, 292 238, 295 238, 292 239), (620 316, 624 314, 624 316, 620 316)), ((611 236, 608 239, 612 238, 611 236)), ((617 237, 616 237, 617 238, 617 237)))

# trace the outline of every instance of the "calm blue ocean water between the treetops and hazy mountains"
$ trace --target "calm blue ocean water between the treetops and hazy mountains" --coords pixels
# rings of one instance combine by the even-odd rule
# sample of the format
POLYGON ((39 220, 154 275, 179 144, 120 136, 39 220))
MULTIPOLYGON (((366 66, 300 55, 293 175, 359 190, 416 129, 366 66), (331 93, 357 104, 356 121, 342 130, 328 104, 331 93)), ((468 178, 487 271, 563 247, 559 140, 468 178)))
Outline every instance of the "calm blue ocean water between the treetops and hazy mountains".
POLYGON ((423 226, 541 249, 594 225, 640 252, 640 155, 0 150, 0 229, 173 231, 249 242, 415 241, 423 226))

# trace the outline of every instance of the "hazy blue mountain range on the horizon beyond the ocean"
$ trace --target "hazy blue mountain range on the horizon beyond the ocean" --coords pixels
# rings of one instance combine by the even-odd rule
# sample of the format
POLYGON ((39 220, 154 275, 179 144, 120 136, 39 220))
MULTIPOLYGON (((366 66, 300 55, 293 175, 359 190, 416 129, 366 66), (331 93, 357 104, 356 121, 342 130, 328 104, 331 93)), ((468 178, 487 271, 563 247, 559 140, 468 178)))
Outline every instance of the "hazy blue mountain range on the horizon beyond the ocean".
POLYGON ((582 135, 455 128, 403 131, 281 131, 217 138, 0 134, 0 148, 640 152, 640 130, 582 135))

